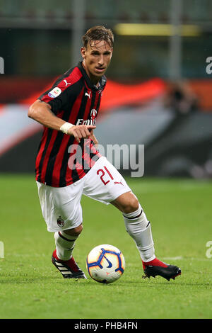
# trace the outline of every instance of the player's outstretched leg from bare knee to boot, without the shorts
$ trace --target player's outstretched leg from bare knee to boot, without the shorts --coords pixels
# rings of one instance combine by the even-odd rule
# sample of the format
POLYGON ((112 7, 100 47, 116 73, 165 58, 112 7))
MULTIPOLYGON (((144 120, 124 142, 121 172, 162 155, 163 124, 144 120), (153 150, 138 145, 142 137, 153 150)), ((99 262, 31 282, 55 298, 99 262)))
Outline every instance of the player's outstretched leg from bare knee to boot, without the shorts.
POLYGON ((155 257, 151 222, 147 220, 138 199, 133 193, 123 193, 112 204, 121 210, 127 232, 134 239, 143 263, 145 277, 163 276, 168 281, 181 273, 177 266, 165 264, 155 257))

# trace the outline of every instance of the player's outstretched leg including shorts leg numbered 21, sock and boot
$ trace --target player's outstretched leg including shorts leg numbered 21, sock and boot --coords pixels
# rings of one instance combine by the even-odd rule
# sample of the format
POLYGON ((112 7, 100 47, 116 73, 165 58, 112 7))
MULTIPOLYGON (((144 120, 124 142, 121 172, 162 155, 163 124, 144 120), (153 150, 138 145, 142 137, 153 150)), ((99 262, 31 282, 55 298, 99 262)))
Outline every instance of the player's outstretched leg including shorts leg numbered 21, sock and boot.
POLYGON ((151 223, 119 171, 105 157, 101 157, 85 178, 83 193, 86 196, 104 203, 112 203, 122 212, 126 230, 139 249, 146 276, 160 275, 170 279, 179 275, 178 267, 167 265, 155 258, 151 223), (150 269, 151 266, 154 266, 153 271, 150 269))

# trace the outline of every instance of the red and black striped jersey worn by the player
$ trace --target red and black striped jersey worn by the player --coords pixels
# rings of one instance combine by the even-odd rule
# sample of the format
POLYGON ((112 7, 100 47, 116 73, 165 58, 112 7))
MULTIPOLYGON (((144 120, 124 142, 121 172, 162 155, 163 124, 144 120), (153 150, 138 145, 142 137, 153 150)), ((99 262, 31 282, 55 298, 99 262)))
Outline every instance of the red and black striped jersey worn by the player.
MULTIPOLYGON (((66 122, 94 125, 105 84, 103 76, 95 86, 80 62, 38 99, 49 103, 52 112, 66 122)), ((45 127, 35 162, 36 180, 53 187, 68 186, 85 176, 100 156, 90 138, 78 143, 72 135, 45 127)))

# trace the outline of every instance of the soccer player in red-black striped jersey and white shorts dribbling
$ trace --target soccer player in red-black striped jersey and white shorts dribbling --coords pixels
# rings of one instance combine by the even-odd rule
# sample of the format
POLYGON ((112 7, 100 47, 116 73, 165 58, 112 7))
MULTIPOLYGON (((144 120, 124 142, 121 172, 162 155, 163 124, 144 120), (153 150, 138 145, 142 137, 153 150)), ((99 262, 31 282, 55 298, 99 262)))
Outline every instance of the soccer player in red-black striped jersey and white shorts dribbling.
POLYGON ((83 35, 83 61, 62 74, 28 111, 30 118, 44 125, 35 172, 42 215, 47 230, 54 232, 52 263, 64 278, 86 278, 72 256, 83 230, 84 194, 111 203, 122 212, 126 230, 141 255, 145 276, 170 280, 181 273, 180 269, 155 257, 151 224, 138 198, 96 147, 93 130, 113 43, 110 29, 90 28, 83 35))

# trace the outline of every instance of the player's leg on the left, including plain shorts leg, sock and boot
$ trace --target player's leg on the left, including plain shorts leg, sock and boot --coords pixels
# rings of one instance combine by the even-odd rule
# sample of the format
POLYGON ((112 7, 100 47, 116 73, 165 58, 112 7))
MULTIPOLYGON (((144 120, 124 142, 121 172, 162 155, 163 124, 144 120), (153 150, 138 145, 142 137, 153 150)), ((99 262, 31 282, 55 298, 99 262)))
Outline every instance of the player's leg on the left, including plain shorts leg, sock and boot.
POLYGON ((54 232, 56 249, 52 254, 52 264, 64 278, 86 278, 72 256, 76 240, 83 230, 80 205, 83 181, 76 183, 64 188, 37 183, 47 230, 54 232))

